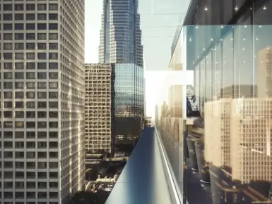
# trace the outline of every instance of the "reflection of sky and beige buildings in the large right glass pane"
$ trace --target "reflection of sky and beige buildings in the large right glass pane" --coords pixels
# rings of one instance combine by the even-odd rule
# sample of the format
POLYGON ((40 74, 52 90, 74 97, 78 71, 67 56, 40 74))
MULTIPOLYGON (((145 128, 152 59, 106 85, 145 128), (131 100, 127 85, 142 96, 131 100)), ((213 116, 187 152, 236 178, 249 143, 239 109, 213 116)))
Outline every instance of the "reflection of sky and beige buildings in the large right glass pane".
MULTIPOLYGON (((200 182, 211 182, 205 189, 211 190, 212 203, 265 203, 272 181, 271 27, 205 25, 198 29, 210 35, 203 39, 215 40, 202 52, 200 41, 201 46, 187 48, 199 55, 193 59, 195 93, 200 107, 201 103, 205 107, 203 132, 187 125, 187 167, 199 170, 200 182), (218 32, 208 32, 218 29, 223 30, 219 38, 218 32)), ((189 179, 194 178, 187 175, 190 184, 189 179)), ((187 188, 189 203, 193 191, 187 188)))

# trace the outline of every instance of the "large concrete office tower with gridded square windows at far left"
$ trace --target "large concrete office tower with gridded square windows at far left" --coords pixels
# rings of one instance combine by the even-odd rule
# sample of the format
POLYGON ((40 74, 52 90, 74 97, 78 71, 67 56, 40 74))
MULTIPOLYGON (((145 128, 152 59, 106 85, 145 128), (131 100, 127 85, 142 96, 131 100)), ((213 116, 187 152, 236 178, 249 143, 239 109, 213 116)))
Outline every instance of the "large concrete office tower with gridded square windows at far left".
POLYGON ((83 187, 84 1, 0 1, 1 203, 83 187))

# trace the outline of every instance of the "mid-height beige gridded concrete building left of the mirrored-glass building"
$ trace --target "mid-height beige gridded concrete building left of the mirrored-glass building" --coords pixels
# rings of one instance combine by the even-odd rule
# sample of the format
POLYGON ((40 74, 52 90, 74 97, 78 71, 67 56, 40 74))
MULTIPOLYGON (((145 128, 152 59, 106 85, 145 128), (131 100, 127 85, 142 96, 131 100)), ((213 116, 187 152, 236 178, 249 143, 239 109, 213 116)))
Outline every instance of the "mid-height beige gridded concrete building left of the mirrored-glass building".
POLYGON ((111 153, 113 64, 85 64, 85 152, 111 153))

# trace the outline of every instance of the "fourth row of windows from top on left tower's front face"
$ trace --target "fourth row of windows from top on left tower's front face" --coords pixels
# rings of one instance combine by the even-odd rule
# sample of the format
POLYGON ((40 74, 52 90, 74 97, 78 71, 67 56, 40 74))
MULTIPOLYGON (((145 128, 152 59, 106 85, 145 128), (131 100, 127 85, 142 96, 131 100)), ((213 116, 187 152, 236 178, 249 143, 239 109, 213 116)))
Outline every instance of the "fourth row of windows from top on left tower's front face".
MULTIPOLYGON (((14 33, 14 39, 15 40, 35 40, 37 37, 37 40, 46 40, 47 39, 47 33, 14 33)), ((1 39, 1 33, 0 33, 0 39, 1 39)), ((13 33, 3 33, 3 39, 4 40, 13 40, 13 33)), ((57 40, 58 34, 53 32, 48 34, 49 40, 57 40)))

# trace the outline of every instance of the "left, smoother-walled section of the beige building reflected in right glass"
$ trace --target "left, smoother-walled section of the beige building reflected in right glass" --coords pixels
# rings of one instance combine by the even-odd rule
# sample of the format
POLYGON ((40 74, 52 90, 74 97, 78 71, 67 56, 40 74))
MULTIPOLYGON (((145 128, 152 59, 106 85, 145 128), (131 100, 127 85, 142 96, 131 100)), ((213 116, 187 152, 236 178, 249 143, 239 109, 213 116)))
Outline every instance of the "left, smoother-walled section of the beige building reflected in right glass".
POLYGON ((230 166, 230 98, 205 103, 205 159, 230 166))

